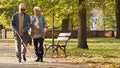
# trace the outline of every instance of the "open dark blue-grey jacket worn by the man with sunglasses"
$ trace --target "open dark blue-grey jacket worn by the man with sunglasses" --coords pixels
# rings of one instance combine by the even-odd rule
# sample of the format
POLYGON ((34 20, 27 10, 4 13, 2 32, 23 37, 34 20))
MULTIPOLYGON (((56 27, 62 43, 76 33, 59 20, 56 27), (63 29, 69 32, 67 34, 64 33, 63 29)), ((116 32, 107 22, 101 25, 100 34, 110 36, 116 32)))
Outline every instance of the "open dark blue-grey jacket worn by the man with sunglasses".
MULTIPOLYGON (((17 35, 15 33, 15 30, 19 30, 19 16, 18 15, 19 15, 18 12, 13 14, 12 20, 11 20, 11 27, 14 32, 14 36, 17 35)), ((25 31, 24 32, 25 34, 28 33, 29 25, 30 25, 30 16, 27 13, 24 13, 23 30, 25 31)))

